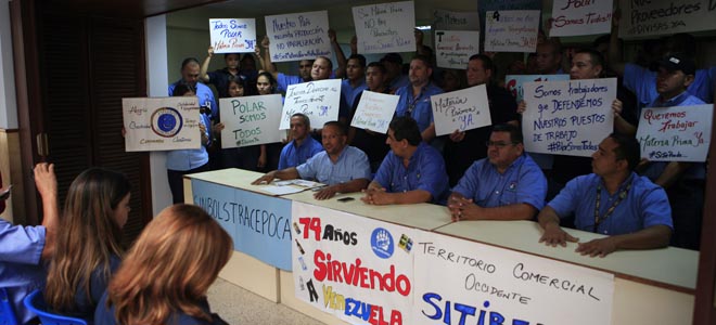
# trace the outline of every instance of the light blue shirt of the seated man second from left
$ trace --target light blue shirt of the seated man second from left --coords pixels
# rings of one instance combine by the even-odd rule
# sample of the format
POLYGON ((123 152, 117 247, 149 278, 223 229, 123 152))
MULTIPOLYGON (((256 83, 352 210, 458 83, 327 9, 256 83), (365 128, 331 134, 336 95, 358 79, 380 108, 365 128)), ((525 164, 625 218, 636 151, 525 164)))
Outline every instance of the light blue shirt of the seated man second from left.
POLYGON ((320 183, 333 185, 357 179, 370 180, 368 156, 355 146, 346 146, 333 164, 325 151, 308 158, 296 167, 302 179, 314 179, 320 183))

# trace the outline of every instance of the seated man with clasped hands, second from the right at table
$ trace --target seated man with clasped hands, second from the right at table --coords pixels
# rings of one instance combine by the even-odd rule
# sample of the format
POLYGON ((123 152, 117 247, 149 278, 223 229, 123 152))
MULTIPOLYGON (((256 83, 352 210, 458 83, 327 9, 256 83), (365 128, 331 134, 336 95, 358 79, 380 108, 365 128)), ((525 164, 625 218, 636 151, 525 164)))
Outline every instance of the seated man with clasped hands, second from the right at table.
POLYGON ((475 161, 452 190, 452 221, 532 219, 545 206, 547 179, 525 154, 520 129, 493 127, 487 156, 475 161))

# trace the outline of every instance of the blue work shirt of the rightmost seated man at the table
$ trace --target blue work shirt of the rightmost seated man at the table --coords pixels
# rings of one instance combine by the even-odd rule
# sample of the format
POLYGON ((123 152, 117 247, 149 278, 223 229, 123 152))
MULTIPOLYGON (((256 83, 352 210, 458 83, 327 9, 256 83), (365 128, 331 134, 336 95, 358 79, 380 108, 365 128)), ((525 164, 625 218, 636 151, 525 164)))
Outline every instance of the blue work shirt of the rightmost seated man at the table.
POLYGON ((614 194, 606 192, 602 178, 594 174, 585 174, 570 181, 562 192, 549 204, 560 218, 575 213, 575 225, 577 229, 592 232, 594 226, 594 206, 597 205, 597 186, 601 185, 599 216, 601 222, 597 233, 604 235, 623 235, 641 231, 653 225, 666 225, 674 229, 672 222, 672 208, 666 197, 666 192, 661 186, 652 183, 648 178, 637 176, 629 177, 619 185, 614 194), (631 183, 627 196, 619 203, 614 212, 606 219, 604 213, 618 199, 619 195, 631 183))

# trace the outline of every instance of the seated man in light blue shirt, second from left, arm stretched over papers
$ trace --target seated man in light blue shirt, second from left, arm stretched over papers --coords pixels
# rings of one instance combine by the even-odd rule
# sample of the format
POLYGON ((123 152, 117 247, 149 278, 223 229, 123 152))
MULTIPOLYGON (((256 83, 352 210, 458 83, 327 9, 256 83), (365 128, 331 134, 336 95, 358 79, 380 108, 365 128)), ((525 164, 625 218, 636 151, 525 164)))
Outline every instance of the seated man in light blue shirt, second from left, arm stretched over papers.
POLYGON ((314 194, 317 199, 366 188, 370 180, 368 157, 359 148, 346 145, 348 133, 345 126, 338 121, 325 122, 322 140, 325 151, 316 154, 305 164, 270 171, 252 184, 270 183, 273 179, 312 179, 328 185, 314 194))

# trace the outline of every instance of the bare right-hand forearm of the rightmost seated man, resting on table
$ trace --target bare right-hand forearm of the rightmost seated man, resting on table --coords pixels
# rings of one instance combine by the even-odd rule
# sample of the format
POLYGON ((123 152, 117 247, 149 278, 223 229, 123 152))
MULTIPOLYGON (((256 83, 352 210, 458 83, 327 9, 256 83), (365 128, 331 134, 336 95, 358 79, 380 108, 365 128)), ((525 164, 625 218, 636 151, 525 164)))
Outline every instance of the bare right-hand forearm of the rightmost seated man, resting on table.
POLYGON ((579 243, 575 251, 590 257, 605 257, 622 249, 653 249, 668 246, 672 229, 657 224, 642 229, 636 233, 610 236, 579 243))

